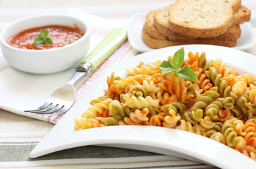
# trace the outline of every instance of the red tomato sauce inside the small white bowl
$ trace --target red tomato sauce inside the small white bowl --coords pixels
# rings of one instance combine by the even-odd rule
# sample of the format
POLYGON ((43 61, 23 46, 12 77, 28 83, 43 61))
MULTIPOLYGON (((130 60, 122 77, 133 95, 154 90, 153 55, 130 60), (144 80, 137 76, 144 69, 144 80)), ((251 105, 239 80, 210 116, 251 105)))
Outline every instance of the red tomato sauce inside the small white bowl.
POLYGON ((23 30, 22 32, 8 39, 8 44, 20 49, 54 49, 61 46, 66 46, 67 44, 72 44, 73 42, 83 37, 84 34, 85 33, 76 25, 75 27, 68 27, 63 25, 47 25, 43 27, 34 27, 28 30, 23 30), (52 40, 53 44, 41 43, 37 46, 33 46, 33 42, 37 35, 39 35, 42 30, 47 28, 50 29, 47 37, 52 40))

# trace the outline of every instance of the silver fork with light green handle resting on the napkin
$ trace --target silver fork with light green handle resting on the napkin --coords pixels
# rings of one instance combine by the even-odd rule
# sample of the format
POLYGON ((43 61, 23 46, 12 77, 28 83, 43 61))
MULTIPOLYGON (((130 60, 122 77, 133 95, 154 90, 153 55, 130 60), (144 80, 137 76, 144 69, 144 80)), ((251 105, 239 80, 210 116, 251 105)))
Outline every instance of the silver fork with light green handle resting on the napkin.
POLYGON ((75 83, 88 77, 97 66, 102 63, 113 51, 115 51, 127 39, 127 31, 119 28, 109 32, 99 45, 80 61, 75 73, 63 87, 56 89, 47 101, 35 110, 24 112, 42 115, 60 115, 68 111, 75 101, 75 83))

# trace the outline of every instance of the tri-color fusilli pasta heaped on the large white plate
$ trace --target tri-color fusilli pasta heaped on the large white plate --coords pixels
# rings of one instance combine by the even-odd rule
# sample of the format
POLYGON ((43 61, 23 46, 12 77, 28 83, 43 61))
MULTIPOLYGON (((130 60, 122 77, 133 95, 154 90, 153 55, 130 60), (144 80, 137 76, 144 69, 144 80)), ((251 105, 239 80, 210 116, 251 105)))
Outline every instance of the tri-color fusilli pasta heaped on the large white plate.
POLYGON ((255 77, 226 68, 220 58, 207 61, 205 52, 189 52, 183 61, 197 82, 161 75, 160 64, 140 62, 123 78, 112 73, 104 96, 92 100, 75 119, 75 130, 108 125, 176 128, 214 139, 256 161, 255 77))

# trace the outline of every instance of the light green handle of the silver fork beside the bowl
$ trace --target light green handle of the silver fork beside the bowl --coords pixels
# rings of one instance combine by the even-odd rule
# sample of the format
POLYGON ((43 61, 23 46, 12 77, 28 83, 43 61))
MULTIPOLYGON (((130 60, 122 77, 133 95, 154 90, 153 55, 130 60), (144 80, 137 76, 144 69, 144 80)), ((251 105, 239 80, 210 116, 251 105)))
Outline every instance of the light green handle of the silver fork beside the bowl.
POLYGON ((95 70, 110 54, 113 53, 127 39, 127 30, 118 28, 111 30, 96 48, 82 61, 75 70, 85 71, 87 74, 95 70))

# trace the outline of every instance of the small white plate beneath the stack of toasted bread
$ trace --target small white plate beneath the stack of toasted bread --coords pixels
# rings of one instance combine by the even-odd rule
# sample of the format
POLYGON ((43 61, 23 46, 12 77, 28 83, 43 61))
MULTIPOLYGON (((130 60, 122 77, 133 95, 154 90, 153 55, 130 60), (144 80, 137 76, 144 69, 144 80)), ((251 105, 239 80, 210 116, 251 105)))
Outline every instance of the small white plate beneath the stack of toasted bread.
MULTIPOLYGON (((147 13, 137 13, 133 15, 128 25, 128 39, 130 45, 133 47, 133 49, 139 52, 154 50, 142 41, 142 27, 145 23, 146 15, 147 13)), ((233 47, 233 49, 245 51, 253 46, 253 44, 255 43, 255 37, 253 35, 250 23, 243 23, 240 25, 240 28, 241 35, 237 40, 236 46, 233 47)))

